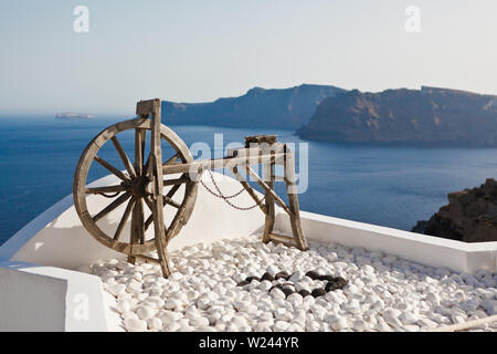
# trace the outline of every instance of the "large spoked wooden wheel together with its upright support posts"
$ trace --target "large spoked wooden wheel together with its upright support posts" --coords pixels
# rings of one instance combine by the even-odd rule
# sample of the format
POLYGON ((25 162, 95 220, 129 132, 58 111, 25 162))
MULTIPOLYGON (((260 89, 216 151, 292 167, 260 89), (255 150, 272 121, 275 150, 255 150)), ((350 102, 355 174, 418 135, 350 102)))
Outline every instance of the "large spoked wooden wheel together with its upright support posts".
POLYGON ((167 243, 178 235, 181 227, 187 223, 193 211, 197 199, 195 181, 187 177, 187 174, 178 178, 163 180, 162 167, 175 164, 192 163, 193 158, 187 145, 167 126, 160 124, 160 101, 151 100, 139 102, 137 105, 138 118, 112 125, 101 132, 86 146, 76 167, 73 184, 73 197, 76 211, 86 230, 101 243, 118 252, 128 254, 128 261, 135 262, 137 257, 147 261, 156 261, 161 264, 162 273, 170 273, 167 252, 167 243), (151 115, 151 119, 148 116, 151 115), (135 158, 130 162, 128 155, 119 143, 118 135, 124 132, 135 132, 135 158), (146 158, 146 133, 150 132, 150 154, 146 158), (173 155, 162 162, 161 140, 172 147, 173 155), (123 173, 115 166, 98 156, 98 152, 106 142, 110 140, 114 148, 126 167, 123 173), (93 163, 99 164, 120 179, 120 184, 88 188, 86 178, 93 163), (184 185, 181 202, 172 199, 178 189, 184 185), (167 194, 162 194, 165 186, 171 186, 167 194), (160 192, 158 192, 160 191, 160 192), (89 195, 103 195, 115 197, 113 201, 96 214, 88 211, 86 198, 89 195), (160 196, 160 197, 158 197, 160 196), (103 219, 120 206, 126 209, 120 217, 114 233, 109 235, 98 226, 103 219), (163 211, 166 206, 176 209, 169 227, 165 226, 163 211), (145 208, 151 214, 146 219, 145 208), (131 218, 130 235, 125 239, 123 230, 128 219, 131 218), (146 240, 145 232, 154 223, 155 237, 146 240), (148 256, 157 250, 158 259, 148 256))

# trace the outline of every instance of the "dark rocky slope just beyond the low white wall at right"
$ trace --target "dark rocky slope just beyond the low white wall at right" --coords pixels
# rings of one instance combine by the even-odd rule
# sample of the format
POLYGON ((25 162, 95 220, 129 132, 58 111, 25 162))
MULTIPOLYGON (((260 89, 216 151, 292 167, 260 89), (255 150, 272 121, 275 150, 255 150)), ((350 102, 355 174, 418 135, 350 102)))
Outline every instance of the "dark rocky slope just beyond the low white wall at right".
POLYGON ((412 231, 465 242, 497 241, 497 181, 450 192, 448 205, 429 221, 417 221, 412 231))

